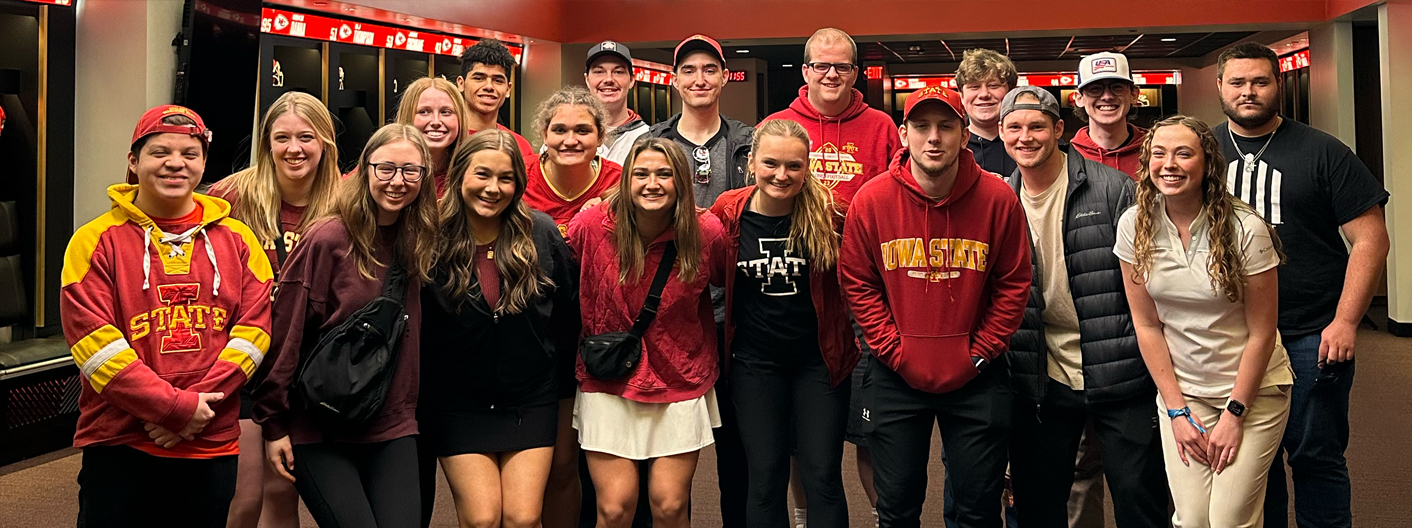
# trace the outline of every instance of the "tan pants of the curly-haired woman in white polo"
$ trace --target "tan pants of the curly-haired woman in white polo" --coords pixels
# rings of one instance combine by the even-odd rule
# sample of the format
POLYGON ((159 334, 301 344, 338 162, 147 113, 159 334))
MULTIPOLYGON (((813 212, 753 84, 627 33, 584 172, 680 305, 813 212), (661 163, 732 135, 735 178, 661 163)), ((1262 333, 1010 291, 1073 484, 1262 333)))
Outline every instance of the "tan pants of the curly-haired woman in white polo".
MULTIPOLYGON (((1216 426, 1226 411, 1226 400, 1186 397, 1192 414, 1207 426, 1216 426)), ((1158 409, 1166 414, 1162 397, 1158 409)), ((1185 419, 1185 418, 1178 418, 1185 419)), ((1245 411, 1244 433, 1236 460, 1216 474, 1210 467, 1187 455, 1190 466, 1182 464, 1172 436, 1172 426, 1161 426, 1162 457, 1166 462, 1166 481, 1172 487, 1176 528, 1257 528, 1264 522, 1265 484, 1275 450, 1289 419, 1289 385, 1264 388, 1245 411)))

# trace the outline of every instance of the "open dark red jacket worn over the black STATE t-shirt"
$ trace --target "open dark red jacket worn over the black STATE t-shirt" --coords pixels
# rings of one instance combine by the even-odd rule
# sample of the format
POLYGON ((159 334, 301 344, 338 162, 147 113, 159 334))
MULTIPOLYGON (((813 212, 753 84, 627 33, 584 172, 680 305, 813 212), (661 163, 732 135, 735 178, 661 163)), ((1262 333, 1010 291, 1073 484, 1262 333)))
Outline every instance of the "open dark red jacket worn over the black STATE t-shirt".
MULTIPOLYGON (((736 306, 736 272, 729 265, 731 258, 740 251, 740 216, 750 203, 755 186, 730 189, 716 198, 712 213, 720 217, 726 229, 726 346, 730 352, 730 342, 736 335, 733 309, 736 306)), ((843 230, 843 216, 849 210, 849 202, 839 199, 836 208, 840 213, 834 223, 836 230, 843 230)), ((836 268, 818 268, 810 265, 809 298, 813 299, 813 312, 819 318, 819 352, 823 353, 823 363, 829 367, 829 384, 837 387, 853 374, 853 367, 858 364, 858 343, 853 339, 853 325, 849 323, 849 309, 843 305, 843 292, 839 291, 839 274, 836 268)))

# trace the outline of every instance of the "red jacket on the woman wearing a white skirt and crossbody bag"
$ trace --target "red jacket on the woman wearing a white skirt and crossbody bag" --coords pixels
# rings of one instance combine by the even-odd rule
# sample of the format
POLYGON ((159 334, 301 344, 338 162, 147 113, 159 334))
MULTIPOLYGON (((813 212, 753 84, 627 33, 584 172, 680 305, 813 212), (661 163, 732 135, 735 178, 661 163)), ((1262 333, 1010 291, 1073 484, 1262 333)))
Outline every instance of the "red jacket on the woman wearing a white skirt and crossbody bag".
MULTIPOLYGON (((642 275, 618 282, 617 250, 613 246, 613 216, 609 202, 579 213, 569 222, 569 247, 580 263, 579 304, 583 311, 583 335, 627 332, 642 309, 652 285, 664 243, 675 240, 668 229, 647 247, 642 275)), ((716 318, 712 312, 710 284, 724 284, 724 233, 720 220, 698 209, 702 233, 702 272, 683 284, 674 270, 662 289, 657 319, 642 336, 642 361, 626 380, 599 380, 578 359, 579 388, 585 392, 609 392, 647 404, 688 401, 706 394, 720 376, 716 357, 716 318)))

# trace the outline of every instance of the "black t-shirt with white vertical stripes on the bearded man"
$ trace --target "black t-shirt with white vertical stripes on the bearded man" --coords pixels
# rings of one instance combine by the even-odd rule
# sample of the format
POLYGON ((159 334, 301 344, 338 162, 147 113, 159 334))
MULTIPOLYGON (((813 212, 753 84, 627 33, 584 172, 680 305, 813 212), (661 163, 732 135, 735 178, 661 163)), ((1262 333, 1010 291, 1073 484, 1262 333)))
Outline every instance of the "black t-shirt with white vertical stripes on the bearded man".
POLYGON ((1213 131, 1226 152, 1231 195, 1275 226, 1289 256, 1279 267, 1279 332, 1323 332, 1348 268, 1339 226, 1387 203, 1388 191, 1347 145, 1308 124, 1286 119, 1274 138, 1236 136, 1234 144, 1230 123, 1213 131))

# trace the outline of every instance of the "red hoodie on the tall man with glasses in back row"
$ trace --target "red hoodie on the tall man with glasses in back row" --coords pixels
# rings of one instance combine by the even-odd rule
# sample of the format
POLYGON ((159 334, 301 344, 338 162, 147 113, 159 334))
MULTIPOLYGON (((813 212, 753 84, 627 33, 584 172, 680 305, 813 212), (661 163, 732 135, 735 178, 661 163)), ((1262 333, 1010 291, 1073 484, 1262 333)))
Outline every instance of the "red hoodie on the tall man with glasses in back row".
POLYGON ((813 143, 809 169, 837 196, 849 200, 863 184, 887 171, 892 152, 902 148, 892 117, 868 107, 863 92, 851 90, 849 109, 833 117, 819 114, 809 103, 809 86, 801 86, 799 97, 788 109, 764 119, 788 119, 802 124, 813 143))

